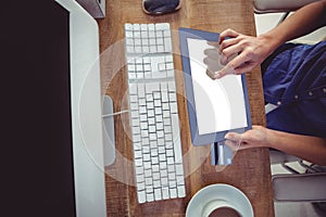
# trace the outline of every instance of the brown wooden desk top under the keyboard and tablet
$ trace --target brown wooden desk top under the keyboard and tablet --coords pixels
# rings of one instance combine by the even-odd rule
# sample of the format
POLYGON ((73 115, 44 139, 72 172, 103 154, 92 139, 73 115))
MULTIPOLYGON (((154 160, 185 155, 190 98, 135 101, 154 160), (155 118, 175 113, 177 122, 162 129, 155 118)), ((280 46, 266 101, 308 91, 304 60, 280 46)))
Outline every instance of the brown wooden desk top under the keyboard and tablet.
MULTIPOLYGON (((124 23, 168 22, 173 30, 178 107, 180 118, 185 199, 137 203, 134 183, 133 152, 129 140, 128 114, 115 116, 116 162, 105 168, 108 216, 184 216, 196 192, 212 183, 228 183, 243 191, 258 217, 274 216, 268 150, 253 149, 236 154, 234 165, 222 171, 210 164, 209 146, 193 148, 190 142, 181 61, 178 47, 178 27, 221 33, 233 28, 246 35, 255 35, 252 2, 248 0, 184 0, 180 11, 150 16, 141 11, 141 0, 106 1, 106 17, 99 20, 102 90, 114 101, 114 111, 127 108, 127 81, 123 47, 124 23)), ((260 69, 247 74, 252 123, 265 125, 264 100, 260 69)), ((221 168, 217 168, 221 169, 221 168)))

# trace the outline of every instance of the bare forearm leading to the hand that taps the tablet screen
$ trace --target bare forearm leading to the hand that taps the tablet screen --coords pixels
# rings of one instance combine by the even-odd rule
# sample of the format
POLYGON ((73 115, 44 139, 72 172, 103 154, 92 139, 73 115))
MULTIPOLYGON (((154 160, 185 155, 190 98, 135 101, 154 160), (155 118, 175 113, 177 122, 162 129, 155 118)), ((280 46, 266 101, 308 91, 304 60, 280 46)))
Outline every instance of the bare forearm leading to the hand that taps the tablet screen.
POLYGON ((271 50, 291 39, 304 36, 326 25, 326 0, 316 1, 299 9, 272 30, 259 36, 268 41, 271 50))

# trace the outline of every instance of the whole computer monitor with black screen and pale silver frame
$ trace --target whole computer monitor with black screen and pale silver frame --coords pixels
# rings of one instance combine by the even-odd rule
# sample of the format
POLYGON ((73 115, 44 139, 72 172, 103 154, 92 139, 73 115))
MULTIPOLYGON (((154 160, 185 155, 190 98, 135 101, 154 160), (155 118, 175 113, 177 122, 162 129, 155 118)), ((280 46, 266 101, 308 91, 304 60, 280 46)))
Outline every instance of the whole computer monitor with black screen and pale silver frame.
POLYGON ((74 0, 3 3, 1 216, 106 216, 97 22, 74 0))

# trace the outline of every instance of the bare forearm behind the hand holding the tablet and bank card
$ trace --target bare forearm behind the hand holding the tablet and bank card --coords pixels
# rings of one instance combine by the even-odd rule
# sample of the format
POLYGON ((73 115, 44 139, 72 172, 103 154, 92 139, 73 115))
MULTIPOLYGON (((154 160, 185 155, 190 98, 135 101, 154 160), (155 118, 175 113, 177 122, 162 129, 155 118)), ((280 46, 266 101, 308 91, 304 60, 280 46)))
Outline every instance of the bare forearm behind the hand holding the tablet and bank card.
POLYGON ((269 148, 299 156, 318 165, 326 165, 326 139, 269 129, 267 143, 269 148))

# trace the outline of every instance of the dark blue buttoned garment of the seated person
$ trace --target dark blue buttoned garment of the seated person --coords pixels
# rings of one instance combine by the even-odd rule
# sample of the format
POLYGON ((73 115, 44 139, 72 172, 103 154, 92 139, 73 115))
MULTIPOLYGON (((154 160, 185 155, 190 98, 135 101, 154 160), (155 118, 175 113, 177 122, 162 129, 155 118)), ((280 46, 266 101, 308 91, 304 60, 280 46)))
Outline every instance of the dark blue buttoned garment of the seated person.
POLYGON ((325 138, 326 41, 286 43, 266 62, 265 101, 278 105, 267 114, 267 127, 325 138))

